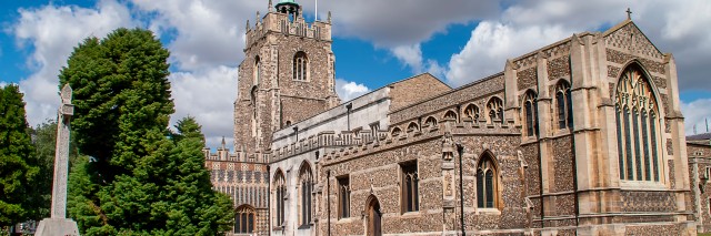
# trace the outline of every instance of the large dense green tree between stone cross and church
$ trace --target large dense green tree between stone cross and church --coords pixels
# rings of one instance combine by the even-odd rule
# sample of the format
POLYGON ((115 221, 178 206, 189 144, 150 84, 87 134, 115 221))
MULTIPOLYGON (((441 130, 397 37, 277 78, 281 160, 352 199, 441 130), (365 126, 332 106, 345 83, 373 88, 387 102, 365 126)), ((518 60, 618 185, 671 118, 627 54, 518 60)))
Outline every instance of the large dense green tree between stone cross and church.
POLYGON ((232 202, 204 168, 200 125, 188 117, 167 129, 167 59, 150 31, 119 29, 84 40, 61 71, 74 90, 72 135, 90 156, 69 184, 84 235, 216 235, 232 224, 232 202))

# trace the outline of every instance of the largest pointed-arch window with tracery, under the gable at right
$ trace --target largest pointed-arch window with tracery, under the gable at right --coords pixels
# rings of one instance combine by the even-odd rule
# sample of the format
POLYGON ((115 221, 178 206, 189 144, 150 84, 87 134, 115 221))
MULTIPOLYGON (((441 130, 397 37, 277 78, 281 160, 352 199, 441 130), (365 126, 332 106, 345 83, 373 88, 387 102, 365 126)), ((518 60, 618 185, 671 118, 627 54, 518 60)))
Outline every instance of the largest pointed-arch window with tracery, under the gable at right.
POLYGON ((638 65, 624 70, 615 92, 620 178, 659 182, 659 107, 638 65))

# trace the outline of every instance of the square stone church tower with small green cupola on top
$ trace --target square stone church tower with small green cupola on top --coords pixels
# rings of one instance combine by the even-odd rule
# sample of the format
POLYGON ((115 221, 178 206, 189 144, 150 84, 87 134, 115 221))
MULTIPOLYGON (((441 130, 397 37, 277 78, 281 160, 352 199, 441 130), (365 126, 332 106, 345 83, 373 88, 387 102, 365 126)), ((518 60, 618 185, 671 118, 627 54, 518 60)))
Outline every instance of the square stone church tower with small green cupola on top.
POLYGON ((274 131, 340 103, 330 17, 308 23, 293 0, 273 8, 270 0, 268 13, 257 12, 256 20, 247 22, 234 101, 234 147, 249 154, 269 150, 274 131))

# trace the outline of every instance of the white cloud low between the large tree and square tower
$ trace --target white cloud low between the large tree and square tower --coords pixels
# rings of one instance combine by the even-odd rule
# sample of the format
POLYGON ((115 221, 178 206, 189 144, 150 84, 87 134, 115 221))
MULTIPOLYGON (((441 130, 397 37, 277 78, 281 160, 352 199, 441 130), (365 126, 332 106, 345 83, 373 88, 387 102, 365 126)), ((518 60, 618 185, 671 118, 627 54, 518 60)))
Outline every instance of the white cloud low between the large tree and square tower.
POLYGON ((237 99, 237 68, 224 65, 170 75, 176 113, 171 124, 188 115, 202 125, 207 145, 217 147, 222 136, 232 147, 233 102, 237 99))

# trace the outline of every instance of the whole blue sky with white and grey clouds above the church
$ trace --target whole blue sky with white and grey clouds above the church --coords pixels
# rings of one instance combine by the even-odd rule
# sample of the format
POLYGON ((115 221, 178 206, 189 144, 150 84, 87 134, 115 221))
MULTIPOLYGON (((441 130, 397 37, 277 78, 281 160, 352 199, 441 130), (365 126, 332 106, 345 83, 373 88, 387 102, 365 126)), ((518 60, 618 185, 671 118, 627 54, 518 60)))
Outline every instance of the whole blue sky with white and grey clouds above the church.
MULTIPOLYGON (((274 0, 276 2, 277 0, 274 0)), ((237 64, 244 22, 268 0, 0 1, 0 84, 19 83, 28 120, 53 119, 57 74, 83 38, 118 27, 153 30, 171 51, 176 117, 193 115, 208 145, 231 138, 237 64)), ((307 19, 314 1, 298 1, 307 19)), ((321 0, 332 11, 337 86, 348 100, 430 72, 452 86, 503 69, 505 59, 632 19, 663 52, 674 54, 687 132, 711 117, 711 2, 685 0, 321 0)))

